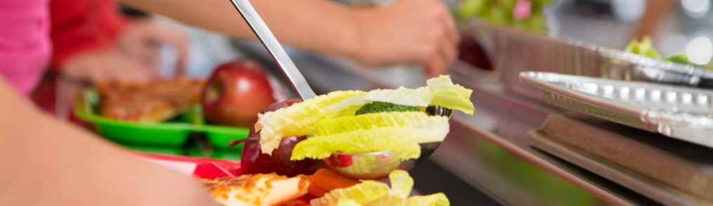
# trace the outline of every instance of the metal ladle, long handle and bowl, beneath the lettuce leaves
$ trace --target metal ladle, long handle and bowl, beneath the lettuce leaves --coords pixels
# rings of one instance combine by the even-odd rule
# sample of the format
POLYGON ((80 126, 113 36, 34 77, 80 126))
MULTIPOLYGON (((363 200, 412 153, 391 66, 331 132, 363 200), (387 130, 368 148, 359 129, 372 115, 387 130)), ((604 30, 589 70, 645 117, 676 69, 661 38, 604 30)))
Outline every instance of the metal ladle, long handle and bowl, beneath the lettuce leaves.
MULTIPOLYGON (((275 35, 272 34, 272 31, 267 28, 265 21, 262 21, 260 15, 257 14, 255 8, 250 4, 250 1, 230 0, 230 2, 232 2, 235 9, 240 12, 242 19, 245 19, 250 29, 255 32, 255 36, 260 39, 260 42, 265 46, 267 52, 270 53, 272 59, 275 60, 277 66, 282 69, 282 72, 287 76, 290 83, 292 83, 292 87, 297 90, 297 94, 302 98, 302 101, 307 101, 307 99, 317 96, 314 94, 314 91, 312 91, 312 88, 309 88, 309 84, 307 84, 302 73, 299 73, 297 66, 295 66, 292 59, 287 56, 284 48, 279 44, 275 35)), ((431 113, 431 115, 446 115, 449 118, 453 115, 453 110, 438 105, 426 108, 426 112, 431 113)), ((414 168, 416 163, 428 158, 441 143, 423 143, 420 145, 421 157, 418 159, 401 160, 394 151, 377 151, 359 154, 334 153, 325 159, 324 163, 327 163, 329 168, 332 168, 342 175, 361 180, 379 179, 386 177, 386 175, 389 175, 389 172, 396 170, 396 168, 404 170, 414 168)))

